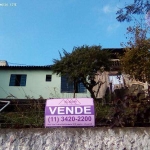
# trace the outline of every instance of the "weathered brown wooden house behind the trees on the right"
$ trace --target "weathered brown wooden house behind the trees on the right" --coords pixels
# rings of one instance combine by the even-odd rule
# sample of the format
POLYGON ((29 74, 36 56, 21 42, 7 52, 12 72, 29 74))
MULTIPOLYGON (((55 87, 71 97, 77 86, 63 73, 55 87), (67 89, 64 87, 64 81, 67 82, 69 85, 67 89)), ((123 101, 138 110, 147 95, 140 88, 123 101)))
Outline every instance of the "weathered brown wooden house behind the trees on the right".
POLYGON ((124 49, 122 48, 111 48, 107 49, 111 52, 111 66, 109 71, 104 71, 103 73, 97 72, 95 75, 95 82, 101 81, 102 84, 97 84, 93 90, 97 98, 103 98, 106 94, 106 90, 109 90, 109 93, 115 91, 115 89, 120 89, 128 87, 130 91, 133 91, 134 95, 137 95, 140 92, 145 92, 145 96, 148 95, 148 84, 147 82, 139 82, 130 78, 128 74, 120 74, 120 59, 119 56, 122 56, 124 49))

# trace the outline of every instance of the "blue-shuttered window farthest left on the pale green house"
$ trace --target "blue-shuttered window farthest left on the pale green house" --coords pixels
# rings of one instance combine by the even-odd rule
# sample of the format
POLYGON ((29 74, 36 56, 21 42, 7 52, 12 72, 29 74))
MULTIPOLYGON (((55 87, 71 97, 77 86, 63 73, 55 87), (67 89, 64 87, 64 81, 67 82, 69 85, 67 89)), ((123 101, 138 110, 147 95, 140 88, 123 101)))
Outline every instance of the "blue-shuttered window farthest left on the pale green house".
POLYGON ((9 86, 26 86, 26 74, 11 74, 9 86))

